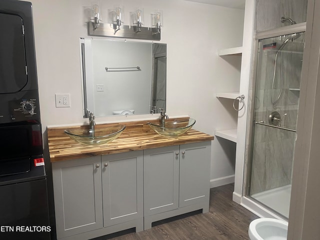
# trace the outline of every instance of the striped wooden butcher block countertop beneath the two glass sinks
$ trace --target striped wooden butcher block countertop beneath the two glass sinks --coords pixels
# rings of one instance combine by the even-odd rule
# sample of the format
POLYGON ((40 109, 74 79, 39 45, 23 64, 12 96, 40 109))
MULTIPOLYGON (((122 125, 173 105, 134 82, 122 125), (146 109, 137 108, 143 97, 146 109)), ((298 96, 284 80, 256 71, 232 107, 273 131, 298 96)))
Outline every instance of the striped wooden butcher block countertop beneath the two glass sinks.
POLYGON ((104 145, 94 146, 77 143, 64 133, 64 129, 66 128, 70 129, 81 127, 85 129, 88 128, 88 125, 48 127, 47 134, 50 161, 55 162, 87 156, 106 155, 119 152, 142 150, 147 148, 213 140, 213 136, 194 130, 192 128, 178 137, 165 137, 153 131, 148 126, 147 122, 155 123, 159 122, 159 120, 156 119, 97 124, 95 125, 96 129, 111 125, 125 125, 125 129, 115 140, 104 145))

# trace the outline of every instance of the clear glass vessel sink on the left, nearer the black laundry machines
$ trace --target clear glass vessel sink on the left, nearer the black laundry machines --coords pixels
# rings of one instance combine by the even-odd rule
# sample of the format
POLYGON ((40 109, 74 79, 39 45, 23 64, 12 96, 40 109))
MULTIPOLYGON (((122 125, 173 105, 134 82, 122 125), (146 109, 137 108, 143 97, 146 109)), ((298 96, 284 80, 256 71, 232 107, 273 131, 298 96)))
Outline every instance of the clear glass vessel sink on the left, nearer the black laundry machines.
POLYGON ((89 129, 70 128, 64 132, 74 141, 85 145, 101 145, 117 138, 124 130, 124 125, 95 128, 92 132, 89 129))

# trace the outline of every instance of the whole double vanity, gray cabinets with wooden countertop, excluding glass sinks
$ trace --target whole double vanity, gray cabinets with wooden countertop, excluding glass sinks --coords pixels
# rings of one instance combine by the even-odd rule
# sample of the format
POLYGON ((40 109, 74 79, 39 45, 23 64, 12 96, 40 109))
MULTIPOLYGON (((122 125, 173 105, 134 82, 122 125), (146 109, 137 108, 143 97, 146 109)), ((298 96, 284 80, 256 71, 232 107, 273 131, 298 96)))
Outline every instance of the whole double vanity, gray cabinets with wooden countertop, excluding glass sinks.
POLYGON ((47 128, 58 240, 138 232, 157 220, 208 211, 213 136, 189 129, 164 137, 149 122, 158 119, 128 121, 118 138, 91 146, 73 141, 64 126, 47 128))

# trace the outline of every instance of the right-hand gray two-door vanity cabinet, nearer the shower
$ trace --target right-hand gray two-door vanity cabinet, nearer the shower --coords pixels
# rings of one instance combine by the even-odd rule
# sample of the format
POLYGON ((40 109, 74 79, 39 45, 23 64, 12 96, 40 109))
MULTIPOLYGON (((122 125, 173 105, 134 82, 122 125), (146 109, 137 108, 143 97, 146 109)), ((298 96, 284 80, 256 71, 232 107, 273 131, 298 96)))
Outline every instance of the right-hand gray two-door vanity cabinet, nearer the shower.
POLYGON ((144 150, 144 229, 189 211, 209 209, 211 142, 144 150))

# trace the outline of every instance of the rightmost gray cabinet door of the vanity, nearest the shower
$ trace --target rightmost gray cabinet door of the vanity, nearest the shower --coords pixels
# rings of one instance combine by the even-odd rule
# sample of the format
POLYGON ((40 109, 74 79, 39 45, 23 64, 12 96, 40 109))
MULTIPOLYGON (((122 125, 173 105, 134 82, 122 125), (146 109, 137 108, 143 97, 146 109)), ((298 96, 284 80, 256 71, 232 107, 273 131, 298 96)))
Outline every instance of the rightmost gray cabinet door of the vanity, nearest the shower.
POLYGON ((179 207, 208 201, 211 142, 180 145, 179 207))

